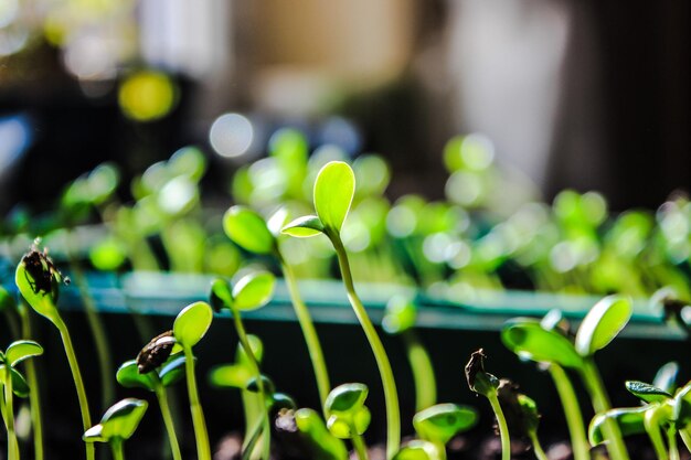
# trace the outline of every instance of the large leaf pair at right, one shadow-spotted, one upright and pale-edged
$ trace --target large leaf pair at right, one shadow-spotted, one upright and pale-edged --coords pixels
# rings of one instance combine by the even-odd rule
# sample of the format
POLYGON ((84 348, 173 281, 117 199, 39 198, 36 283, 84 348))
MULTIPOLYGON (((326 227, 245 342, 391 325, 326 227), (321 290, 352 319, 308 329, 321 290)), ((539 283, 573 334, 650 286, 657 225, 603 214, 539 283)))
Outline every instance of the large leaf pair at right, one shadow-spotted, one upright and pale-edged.
POLYGON ((521 357, 581 368, 584 359, 604 349, 617 336, 631 314, 632 306, 628 298, 608 296, 585 315, 574 343, 562 333, 546 329, 540 321, 532 319, 509 321, 501 332, 501 339, 521 357))

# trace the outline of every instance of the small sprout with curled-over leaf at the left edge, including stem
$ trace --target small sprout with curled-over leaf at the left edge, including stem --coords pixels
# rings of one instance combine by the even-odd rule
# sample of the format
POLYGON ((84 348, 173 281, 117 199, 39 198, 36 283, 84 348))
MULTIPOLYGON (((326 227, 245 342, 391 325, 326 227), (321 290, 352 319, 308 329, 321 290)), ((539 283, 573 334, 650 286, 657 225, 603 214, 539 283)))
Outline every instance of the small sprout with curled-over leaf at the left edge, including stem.
POLYGON ((14 430, 13 396, 26 397, 30 392, 29 384, 24 376, 17 371, 15 366, 29 357, 42 354, 43 347, 31 340, 12 342, 4 353, 0 352, 0 382, 4 388, 4 395, 0 396, 0 409, 8 431, 9 460, 19 460, 19 443, 17 441, 17 431, 14 430))

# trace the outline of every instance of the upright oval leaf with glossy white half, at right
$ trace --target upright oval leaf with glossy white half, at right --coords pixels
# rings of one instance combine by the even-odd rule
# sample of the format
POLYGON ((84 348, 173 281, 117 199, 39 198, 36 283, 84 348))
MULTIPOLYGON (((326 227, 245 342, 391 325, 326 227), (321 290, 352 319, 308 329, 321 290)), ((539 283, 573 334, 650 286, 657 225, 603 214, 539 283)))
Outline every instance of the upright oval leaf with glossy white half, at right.
POLYGON ((632 314, 631 301, 620 296, 608 296, 597 302, 585 315, 576 333, 576 351, 591 356, 607 346, 624 329, 632 314))

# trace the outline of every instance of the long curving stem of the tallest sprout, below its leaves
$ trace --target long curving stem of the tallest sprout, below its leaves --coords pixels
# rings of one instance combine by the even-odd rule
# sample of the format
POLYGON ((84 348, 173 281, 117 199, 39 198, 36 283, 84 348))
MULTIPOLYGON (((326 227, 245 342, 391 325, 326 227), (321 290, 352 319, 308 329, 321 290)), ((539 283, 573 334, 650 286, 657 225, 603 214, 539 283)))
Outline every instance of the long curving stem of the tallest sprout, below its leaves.
POLYGON ((360 325, 370 342, 370 347, 372 349, 376 366, 379 367, 382 386, 384 388, 384 402, 386 405, 386 458, 391 459, 396 454, 401 446, 401 413, 398 409, 396 382, 393 376, 393 371, 391 370, 391 363, 389 362, 386 350, 384 350, 384 345, 382 344, 382 341, 372 324, 372 320, 370 320, 362 301, 355 292, 350 265, 348 263, 348 254, 346 253, 343 243, 338 234, 328 233, 327 236, 331 239, 338 256, 343 285, 348 291, 348 300, 350 300, 350 304, 358 317, 358 321, 360 321, 360 325))

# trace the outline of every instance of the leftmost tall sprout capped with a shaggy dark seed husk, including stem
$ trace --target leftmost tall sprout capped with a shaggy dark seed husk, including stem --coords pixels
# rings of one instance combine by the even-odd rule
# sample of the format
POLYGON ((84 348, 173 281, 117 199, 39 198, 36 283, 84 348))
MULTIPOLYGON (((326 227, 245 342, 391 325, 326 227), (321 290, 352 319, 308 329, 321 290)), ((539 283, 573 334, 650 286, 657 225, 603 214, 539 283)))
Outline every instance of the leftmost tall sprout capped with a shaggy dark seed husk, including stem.
MULTIPOLYGON (((65 354, 67 355, 67 362, 70 363, 70 370, 72 371, 72 378, 77 391, 77 399, 82 413, 82 425, 84 430, 87 430, 92 426, 92 416, 88 409, 84 381, 74 352, 74 345, 72 344, 72 336, 57 310, 60 284, 63 281, 66 282, 67 279, 63 278, 46 253, 39 252, 34 246, 22 257, 22 260, 17 266, 14 281, 22 297, 31 308, 33 308, 36 313, 51 321, 60 332, 65 354)), ((94 446, 87 443, 86 460, 94 460, 94 446)))

